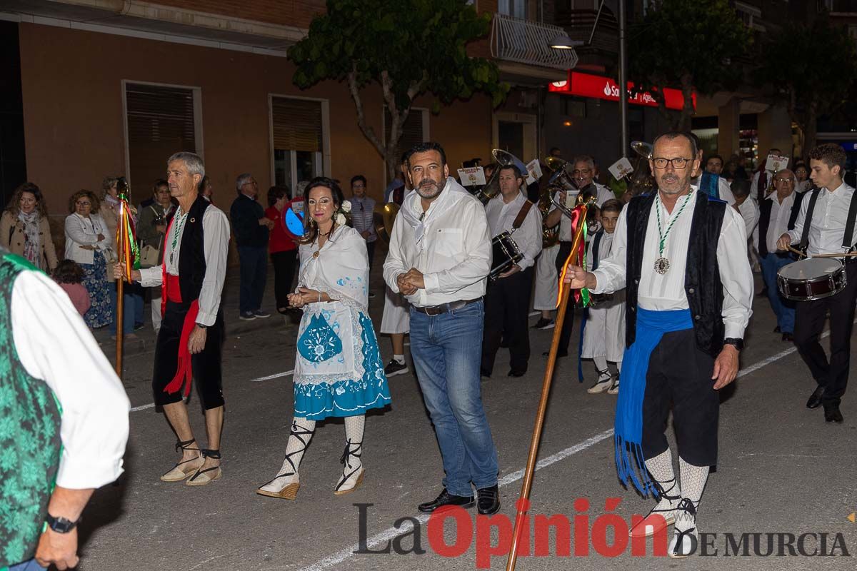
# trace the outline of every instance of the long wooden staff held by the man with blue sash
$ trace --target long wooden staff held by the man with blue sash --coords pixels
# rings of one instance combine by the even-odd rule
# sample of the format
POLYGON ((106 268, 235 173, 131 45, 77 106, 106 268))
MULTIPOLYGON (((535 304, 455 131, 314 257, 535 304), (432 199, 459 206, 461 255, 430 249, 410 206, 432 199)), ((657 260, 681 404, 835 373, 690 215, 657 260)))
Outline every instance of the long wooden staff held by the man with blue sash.
MULTIPOLYGON (((572 253, 566 260, 566 267, 568 263, 572 259, 574 259, 574 256, 578 253, 580 241, 584 239, 584 222, 586 220, 587 205, 589 204, 590 203, 586 203, 582 205, 581 211, 579 212, 578 228, 574 234, 574 241, 572 241, 572 253)), ((560 276, 560 280, 562 279, 563 277, 560 276)), ((562 283, 560 283, 560 288, 561 287, 562 283)), ((539 399, 538 410, 536 411, 536 426, 533 428, 533 435, 530 439, 530 454, 527 456, 527 467, 524 468, 524 483, 521 485, 521 496, 518 498, 518 502, 516 503, 518 507, 518 513, 515 515, 515 527, 512 531, 512 546, 509 548, 509 559, 506 562, 506 571, 514 571, 515 563, 518 562, 518 530, 521 529, 521 526, 524 523, 524 516, 526 516, 527 514, 526 510, 523 508, 524 504, 527 503, 527 501, 529 501, 530 499, 530 488, 532 488, 533 473, 536 472, 536 455, 538 454, 538 445, 542 440, 542 425, 544 425, 544 413, 545 410, 548 408, 550 384, 551 381, 554 380, 556 353, 560 347, 562 323, 563 321, 565 321, 566 318, 566 307, 568 306, 568 298, 570 297, 571 293, 571 287, 563 289, 562 296, 560 297, 560 306, 557 307, 556 310, 554 338, 550 342, 550 351, 548 353, 548 366, 544 371, 544 379, 542 380, 542 397, 539 399)))

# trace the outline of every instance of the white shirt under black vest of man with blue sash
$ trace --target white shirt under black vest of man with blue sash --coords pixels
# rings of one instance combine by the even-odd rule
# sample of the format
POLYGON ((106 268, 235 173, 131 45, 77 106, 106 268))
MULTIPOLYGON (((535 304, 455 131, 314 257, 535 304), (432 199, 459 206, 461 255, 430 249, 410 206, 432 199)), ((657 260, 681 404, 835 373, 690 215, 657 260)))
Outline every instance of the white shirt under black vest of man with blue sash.
MULTIPOLYGON (((646 227, 643 267, 637 295, 638 306, 643 309, 663 311, 690 308, 685 292, 685 269, 695 202, 687 205, 680 216, 679 211, 686 200, 696 200, 697 188, 692 187, 692 190, 693 192, 676 201, 672 214, 667 212, 659 199, 652 205, 646 227), (673 217, 678 217, 664 245, 663 256, 670 264, 665 275, 655 271, 655 260, 660 257, 656 208, 661 210, 662 231, 667 229, 673 217)), ((592 292, 595 294, 612 294, 625 288, 628 243, 626 217, 627 208, 619 215, 610 257, 603 260, 594 272, 597 285, 592 292)), ((720 239, 717 241, 717 264, 723 284, 722 316, 725 337, 743 337, 752 315, 752 271, 746 255, 738 255, 746 253, 746 242, 743 220, 734 208, 727 207, 720 229, 720 239)))

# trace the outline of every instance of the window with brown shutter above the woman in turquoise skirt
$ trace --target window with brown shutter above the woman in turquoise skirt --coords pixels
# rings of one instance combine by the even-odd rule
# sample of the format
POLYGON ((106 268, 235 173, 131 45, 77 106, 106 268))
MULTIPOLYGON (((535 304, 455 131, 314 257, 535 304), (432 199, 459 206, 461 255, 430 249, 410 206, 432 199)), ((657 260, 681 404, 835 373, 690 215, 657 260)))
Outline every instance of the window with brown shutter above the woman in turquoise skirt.
POLYGON ((271 96, 274 184, 294 192, 325 172, 327 101, 271 96))

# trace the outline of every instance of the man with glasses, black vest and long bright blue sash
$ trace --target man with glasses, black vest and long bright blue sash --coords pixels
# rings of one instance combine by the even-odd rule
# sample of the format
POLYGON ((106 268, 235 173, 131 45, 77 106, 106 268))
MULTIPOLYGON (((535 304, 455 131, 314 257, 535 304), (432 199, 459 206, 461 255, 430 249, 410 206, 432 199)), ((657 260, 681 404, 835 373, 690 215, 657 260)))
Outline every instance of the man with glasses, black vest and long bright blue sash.
POLYGON ((659 497, 650 515, 661 517, 647 518, 631 535, 675 523, 672 557, 696 549, 697 508, 717 462, 717 390, 738 372, 752 313, 744 222, 734 208, 691 186, 698 162, 687 134, 658 137, 649 161, 657 193, 631 199, 612 253, 596 271, 570 266, 566 279, 595 294, 626 288, 616 460, 623 482, 659 497), (663 433, 670 401, 680 482, 663 433))

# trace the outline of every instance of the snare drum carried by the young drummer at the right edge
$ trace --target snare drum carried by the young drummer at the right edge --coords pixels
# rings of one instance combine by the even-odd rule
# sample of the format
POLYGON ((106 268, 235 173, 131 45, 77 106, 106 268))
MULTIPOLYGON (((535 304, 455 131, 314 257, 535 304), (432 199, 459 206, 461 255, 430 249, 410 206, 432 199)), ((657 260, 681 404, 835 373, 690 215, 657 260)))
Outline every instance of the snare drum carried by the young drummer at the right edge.
POLYGON ((776 272, 776 285, 787 300, 821 300, 845 288, 845 266, 835 258, 802 259, 776 272))

